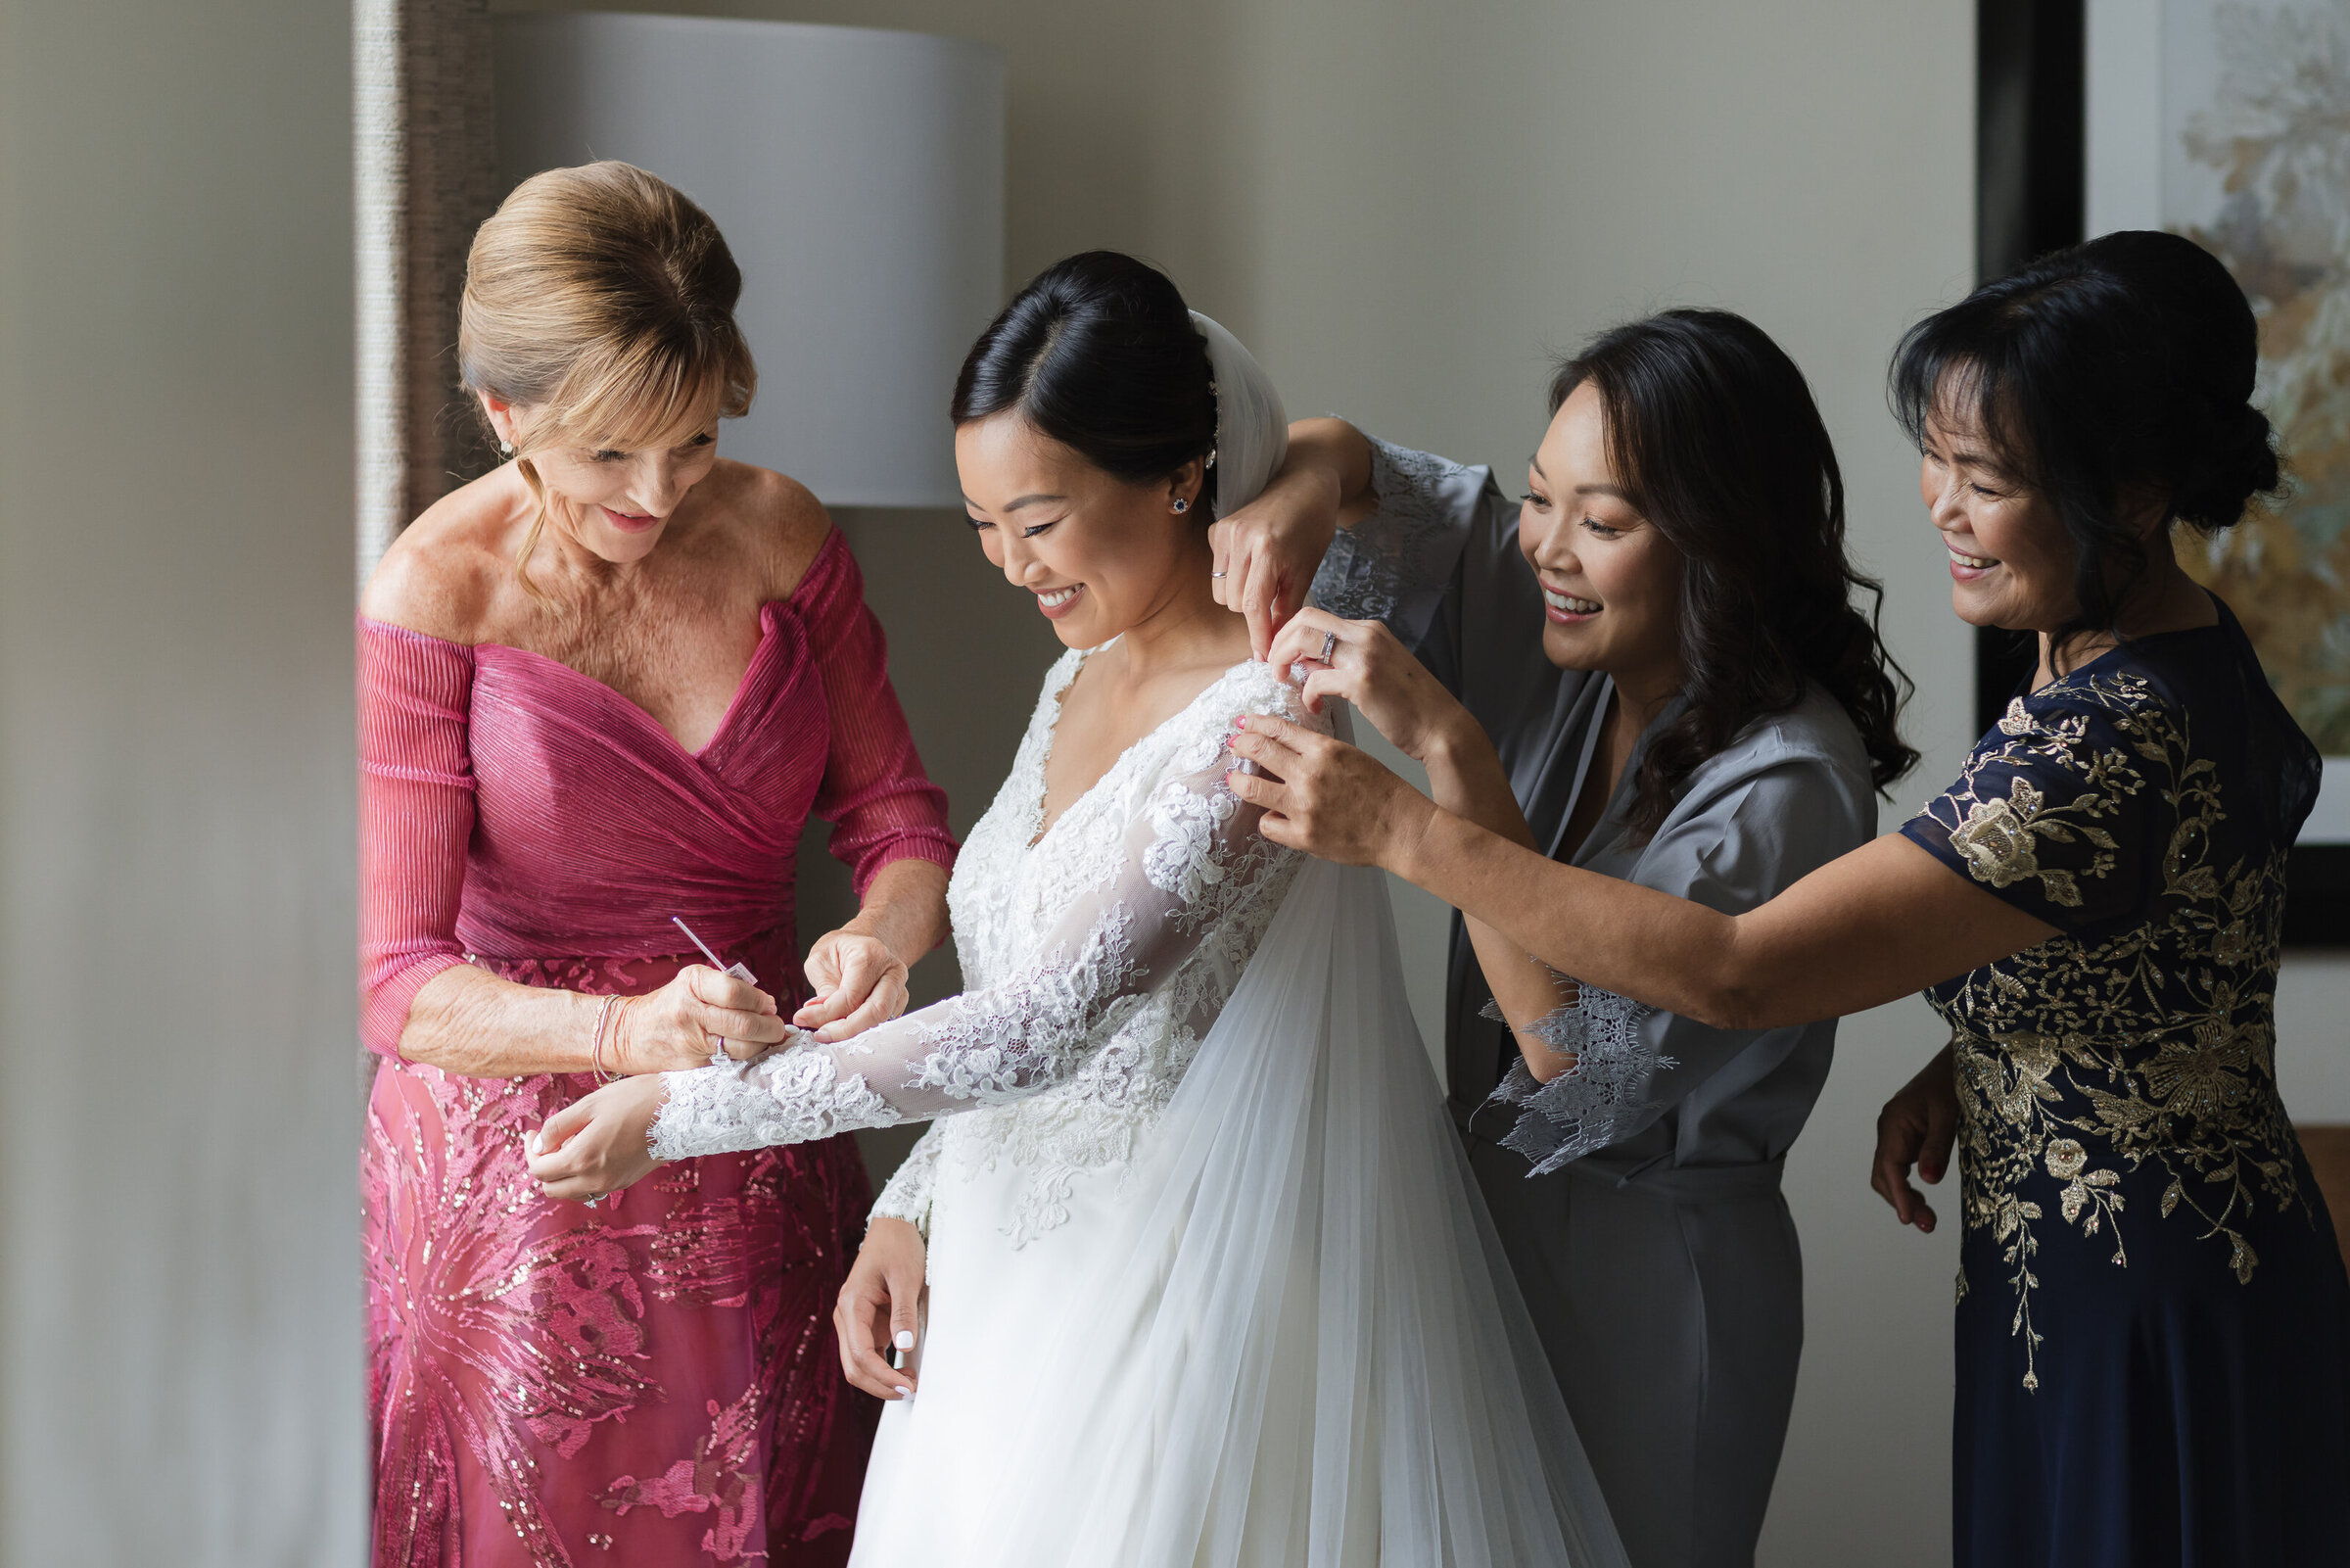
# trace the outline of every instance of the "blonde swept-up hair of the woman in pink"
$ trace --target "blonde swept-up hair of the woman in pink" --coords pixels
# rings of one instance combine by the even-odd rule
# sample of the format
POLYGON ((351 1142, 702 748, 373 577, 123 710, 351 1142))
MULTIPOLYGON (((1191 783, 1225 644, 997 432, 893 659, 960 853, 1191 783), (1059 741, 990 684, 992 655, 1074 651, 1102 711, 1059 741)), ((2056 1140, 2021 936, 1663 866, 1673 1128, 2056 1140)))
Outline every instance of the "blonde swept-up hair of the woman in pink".
POLYGON ((515 550, 524 588, 538 592, 529 562, 548 524, 536 454, 642 451, 750 409, 740 294, 710 214, 625 162, 533 174, 475 233, 456 357, 470 393, 517 411, 515 461, 538 496, 515 550))

